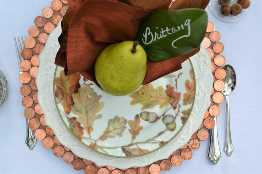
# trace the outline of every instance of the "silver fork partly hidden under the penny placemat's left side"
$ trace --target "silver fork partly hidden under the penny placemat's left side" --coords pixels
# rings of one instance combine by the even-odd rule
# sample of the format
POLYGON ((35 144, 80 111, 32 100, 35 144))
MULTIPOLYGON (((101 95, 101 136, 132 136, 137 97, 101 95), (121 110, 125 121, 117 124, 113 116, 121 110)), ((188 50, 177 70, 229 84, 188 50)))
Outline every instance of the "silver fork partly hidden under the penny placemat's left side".
MULTIPOLYGON (((15 38, 15 37, 14 37, 15 38)), ((21 47, 21 43, 20 43, 20 39, 19 37, 18 38, 18 44, 19 44, 19 48, 20 48, 20 53, 22 52, 22 47, 21 47)), ((26 37, 25 37, 26 38, 26 37)), ((21 37, 21 40, 22 40, 22 45, 23 45, 23 49, 25 49, 25 44, 24 44, 24 40, 23 40, 23 37, 21 37)), ((22 74, 23 73, 23 70, 21 69, 20 67, 20 63, 22 61, 22 56, 20 56, 20 53, 18 51, 18 46, 17 46, 17 41, 15 39, 15 48, 16 48, 16 51, 17 51, 17 59, 18 59, 18 67, 19 67, 19 74, 22 74)), ((27 144, 27 146, 29 147, 29 149, 33 149, 33 147, 35 146, 35 143, 37 142, 36 139, 35 139, 35 134, 34 134, 34 131, 32 129, 29 128, 28 126, 28 123, 29 123, 29 119, 26 119, 26 140, 25 140, 25 143, 27 144)))

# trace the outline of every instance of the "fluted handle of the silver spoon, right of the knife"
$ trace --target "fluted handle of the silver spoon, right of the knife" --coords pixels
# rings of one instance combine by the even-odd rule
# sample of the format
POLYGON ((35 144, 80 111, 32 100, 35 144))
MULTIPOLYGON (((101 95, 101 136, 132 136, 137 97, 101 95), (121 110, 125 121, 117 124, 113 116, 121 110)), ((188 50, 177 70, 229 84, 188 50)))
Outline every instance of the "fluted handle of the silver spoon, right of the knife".
POLYGON ((227 153, 227 156, 231 156, 234 147, 231 140, 231 132, 230 132, 230 113, 229 113, 229 97, 228 94, 225 94, 226 104, 227 104, 227 133, 226 133, 226 140, 225 140, 225 147, 224 151, 227 153))

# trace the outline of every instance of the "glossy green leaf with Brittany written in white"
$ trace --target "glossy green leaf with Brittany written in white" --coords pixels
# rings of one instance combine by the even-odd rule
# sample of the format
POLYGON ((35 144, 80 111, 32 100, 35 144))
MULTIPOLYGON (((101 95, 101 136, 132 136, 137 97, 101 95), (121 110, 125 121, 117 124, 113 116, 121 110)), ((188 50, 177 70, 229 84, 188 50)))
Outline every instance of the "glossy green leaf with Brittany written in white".
POLYGON ((160 62, 198 48, 207 24, 201 9, 159 10, 140 24, 136 40, 149 61, 160 62))

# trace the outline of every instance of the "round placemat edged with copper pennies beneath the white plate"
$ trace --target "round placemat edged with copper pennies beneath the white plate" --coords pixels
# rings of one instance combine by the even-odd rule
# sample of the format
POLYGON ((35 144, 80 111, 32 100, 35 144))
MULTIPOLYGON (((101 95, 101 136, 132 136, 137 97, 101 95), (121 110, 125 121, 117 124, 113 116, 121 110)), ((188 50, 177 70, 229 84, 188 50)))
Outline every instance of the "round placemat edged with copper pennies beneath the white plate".
POLYGON ((209 22, 205 47, 209 53, 211 59, 211 71, 214 74, 214 87, 210 94, 211 107, 206 110, 203 122, 196 131, 191 140, 173 152, 166 160, 157 161, 146 167, 132 167, 127 170, 115 169, 111 166, 97 166, 92 161, 82 159, 74 155, 69 148, 63 147, 57 140, 52 129, 45 124, 45 116, 37 101, 37 88, 35 83, 35 77, 37 73, 37 66, 39 65, 38 54, 40 54, 44 48, 47 36, 56 27, 59 20, 64 15, 67 6, 67 1, 52 1, 51 7, 45 7, 42 11, 43 16, 37 16, 35 18, 35 25, 30 27, 29 35, 30 39, 25 40, 27 49, 23 51, 23 58, 27 61, 21 62, 21 68, 24 70, 24 75, 21 76, 20 81, 23 86, 20 88, 20 93, 25 96, 22 100, 22 104, 28 107, 24 116, 31 119, 29 126, 35 131, 35 137, 37 140, 43 140, 42 145, 45 148, 53 149, 53 153, 57 157, 62 157, 65 163, 72 163, 75 170, 84 170, 85 173, 160 173, 161 170, 168 171, 173 166, 179 166, 183 160, 189 160, 192 158, 192 151, 197 150, 200 147, 200 141, 205 141, 209 137, 208 129, 214 127, 214 117, 220 114, 219 104, 223 101, 223 95, 221 95, 221 89, 225 84, 222 83, 225 72, 222 69, 222 65, 225 64, 225 57, 220 55, 223 51, 223 44, 219 42, 220 34, 214 32, 214 25, 209 22), (62 4, 62 6, 61 6, 62 4), (61 8, 60 8, 61 7, 61 8), (60 19, 59 19, 60 18, 60 19), (34 40, 33 40, 34 39, 34 40), (29 49, 30 48, 30 49, 29 49))

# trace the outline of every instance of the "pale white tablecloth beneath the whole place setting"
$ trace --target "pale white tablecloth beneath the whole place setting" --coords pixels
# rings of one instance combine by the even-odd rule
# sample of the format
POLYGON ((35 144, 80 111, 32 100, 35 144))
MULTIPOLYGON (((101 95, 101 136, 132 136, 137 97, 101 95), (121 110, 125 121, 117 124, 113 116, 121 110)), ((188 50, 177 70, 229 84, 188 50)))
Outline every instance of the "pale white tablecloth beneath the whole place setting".
MULTIPOLYGON (((212 0, 211 0, 212 1, 212 0)), ((14 36, 28 36, 36 16, 42 15, 51 0, 0 1, 0 69, 6 74, 10 93, 7 105, 0 111, 0 173, 84 173, 76 171, 71 164, 53 155, 51 149, 42 147, 38 141, 31 151, 25 144, 26 120, 19 93, 18 63, 14 36)), ((183 160, 179 167, 173 166, 171 173, 262 173, 262 2, 253 0, 248 14, 235 23, 217 20, 209 8, 209 20, 214 22, 225 45, 222 53, 226 64, 231 64, 237 74, 237 88, 230 95, 231 135, 234 152, 227 157, 223 152, 226 133, 225 102, 218 117, 218 133, 222 157, 217 165, 207 158, 209 142, 201 141, 199 150, 192 159, 183 160)))

